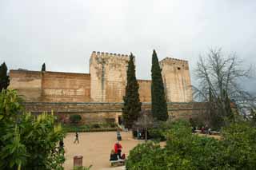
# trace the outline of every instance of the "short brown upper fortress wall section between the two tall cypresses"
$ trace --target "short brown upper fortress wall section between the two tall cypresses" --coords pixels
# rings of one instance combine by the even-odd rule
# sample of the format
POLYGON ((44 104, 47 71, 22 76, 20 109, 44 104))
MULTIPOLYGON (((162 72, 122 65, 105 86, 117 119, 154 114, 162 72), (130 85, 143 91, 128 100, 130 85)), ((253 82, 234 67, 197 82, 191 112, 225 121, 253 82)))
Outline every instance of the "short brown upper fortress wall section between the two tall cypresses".
POLYGON ((148 80, 138 80, 138 93, 141 102, 151 101, 151 81, 148 80))

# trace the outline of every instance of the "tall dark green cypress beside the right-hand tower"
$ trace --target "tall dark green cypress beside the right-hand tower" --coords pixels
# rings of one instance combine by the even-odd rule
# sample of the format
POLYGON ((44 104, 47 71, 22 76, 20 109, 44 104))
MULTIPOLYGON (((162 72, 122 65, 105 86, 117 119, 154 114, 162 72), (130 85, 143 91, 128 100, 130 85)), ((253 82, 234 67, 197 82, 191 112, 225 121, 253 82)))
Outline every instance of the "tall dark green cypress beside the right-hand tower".
POLYGON ((166 121, 168 119, 167 105, 165 91, 162 81, 162 69, 158 62, 158 56, 155 50, 152 55, 152 68, 151 68, 151 102, 152 114, 158 121, 166 121))

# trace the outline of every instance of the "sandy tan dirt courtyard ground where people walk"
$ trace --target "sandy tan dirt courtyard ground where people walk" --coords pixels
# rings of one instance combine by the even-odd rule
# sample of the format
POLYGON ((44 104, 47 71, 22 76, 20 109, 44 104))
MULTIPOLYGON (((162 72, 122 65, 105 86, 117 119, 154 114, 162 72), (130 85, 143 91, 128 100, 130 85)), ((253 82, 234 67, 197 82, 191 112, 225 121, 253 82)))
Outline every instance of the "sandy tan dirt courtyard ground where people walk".
MULTIPOLYGON (((114 148, 117 140, 116 132, 80 132, 79 144, 74 144, 74 133, 68 133, 64 140, 66 151, 66 162, 64 168, 73 169, 73 157, 77 155, 83 156, 83 166, 93 165, 92 170, 110 168, 110 151, 114 148)), ((143 140, 134 140, 131 132, 121 132, 122 152, 128 155, 130 149, 143 140)), ((112 168, 111 168, 112 169, 112 168)), ((114 168, 113 168, 114 169, 114 168)))

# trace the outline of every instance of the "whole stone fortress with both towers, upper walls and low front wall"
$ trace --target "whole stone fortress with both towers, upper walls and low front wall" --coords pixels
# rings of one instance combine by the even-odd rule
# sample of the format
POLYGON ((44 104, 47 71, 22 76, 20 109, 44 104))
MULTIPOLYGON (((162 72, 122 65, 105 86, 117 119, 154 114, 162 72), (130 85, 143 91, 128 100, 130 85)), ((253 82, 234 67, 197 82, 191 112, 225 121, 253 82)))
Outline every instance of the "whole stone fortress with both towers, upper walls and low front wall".
MULTIPOLYGON (((128 61, 128 55, 93 52, 90 73, 10 70, 9 88, 18 90, 31 113, 54 111, 64 121, 70 114, 80 114, 84 122, 118 122, 128 61)), ((169 115, 190 117, 204 112, 203 103, 192 102, 188 61, 166 57, 159 63, 169 115)), ((138 84, 142 109, 150 109, 151 81, 138 80, 138 84)))

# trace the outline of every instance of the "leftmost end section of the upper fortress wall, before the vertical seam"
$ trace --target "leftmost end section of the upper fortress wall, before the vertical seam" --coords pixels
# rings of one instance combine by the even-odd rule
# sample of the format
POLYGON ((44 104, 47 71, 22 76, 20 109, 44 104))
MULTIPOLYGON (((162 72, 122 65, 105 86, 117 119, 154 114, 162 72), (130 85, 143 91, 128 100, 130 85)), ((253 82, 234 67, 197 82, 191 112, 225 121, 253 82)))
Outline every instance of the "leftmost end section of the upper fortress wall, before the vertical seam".
POLYGON ((17 89, 25 101, 42 101, 42 73, 38 71, 10 70, 10 86, 17 89))

